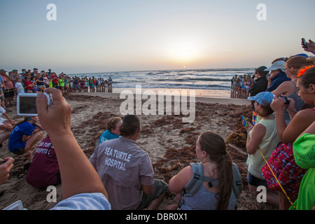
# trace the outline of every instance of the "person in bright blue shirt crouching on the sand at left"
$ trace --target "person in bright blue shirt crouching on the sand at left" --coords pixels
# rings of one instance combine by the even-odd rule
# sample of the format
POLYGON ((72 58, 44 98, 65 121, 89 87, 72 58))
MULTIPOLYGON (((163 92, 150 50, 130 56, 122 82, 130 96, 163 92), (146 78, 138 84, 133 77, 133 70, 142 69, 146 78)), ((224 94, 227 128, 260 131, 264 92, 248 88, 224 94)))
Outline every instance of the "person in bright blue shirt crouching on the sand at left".
POLYGON ((37 122, 37 116, 30 116, 13 128, 8 141, 11 153, 18 155, 27 153, 43 137, 41 132, 43 128, 37 122))

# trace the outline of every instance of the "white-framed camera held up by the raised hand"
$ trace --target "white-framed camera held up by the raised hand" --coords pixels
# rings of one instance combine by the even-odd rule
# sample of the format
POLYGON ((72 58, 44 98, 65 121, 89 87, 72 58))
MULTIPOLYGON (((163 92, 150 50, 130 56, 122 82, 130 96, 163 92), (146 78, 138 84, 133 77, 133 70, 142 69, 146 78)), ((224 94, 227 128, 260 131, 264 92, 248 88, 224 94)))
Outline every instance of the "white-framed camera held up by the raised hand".
MULTIPOLYGON (((48 106, 52 104, 52 97, 47 92, 44 92, 47 98, 48 106)), ((16 102, 16 110, 18 116, 38 116, 36 108, 37 93, 20 93, 16 102)))

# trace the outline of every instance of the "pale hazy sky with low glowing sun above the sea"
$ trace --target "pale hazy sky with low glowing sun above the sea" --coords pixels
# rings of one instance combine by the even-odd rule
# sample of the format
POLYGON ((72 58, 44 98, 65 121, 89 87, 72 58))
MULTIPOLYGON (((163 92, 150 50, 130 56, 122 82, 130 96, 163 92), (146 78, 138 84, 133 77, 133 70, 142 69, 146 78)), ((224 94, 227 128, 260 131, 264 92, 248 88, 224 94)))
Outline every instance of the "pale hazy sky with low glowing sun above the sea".
POLYGON ((268 66, 303 53, 302 37, 315 41, 314 8, 314 0, 1 0, 0 69, 268 66), (46 18, 49 3, 57 8, 55 21, 46 18), (257 18, 259 3, 267 20, 257 18))

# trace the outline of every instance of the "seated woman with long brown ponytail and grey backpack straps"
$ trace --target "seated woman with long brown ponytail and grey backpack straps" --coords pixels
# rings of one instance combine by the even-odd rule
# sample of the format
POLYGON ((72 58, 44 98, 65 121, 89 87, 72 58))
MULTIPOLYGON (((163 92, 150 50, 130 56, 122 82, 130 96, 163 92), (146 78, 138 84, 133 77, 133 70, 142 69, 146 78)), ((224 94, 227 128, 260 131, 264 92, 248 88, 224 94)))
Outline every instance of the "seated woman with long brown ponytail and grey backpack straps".
POLYGON ((232 210, 237 205, 237 197, 232 190, 232 160, 226 151, 223 138, 214 132, 204 132, 196 142, 196 155, 202 162, 204 176, 218 181, 218 185, 209 186, 209 181, 203 181, 195 194, 187 194, 183 189, 193 178, 193 169, 188 166, 182 169, 169 181, 169 190, 177 193, 179 204, 167 206, 165 209, 174 210, 232 210), (184 193, 183 193, 184 192, 184 193))

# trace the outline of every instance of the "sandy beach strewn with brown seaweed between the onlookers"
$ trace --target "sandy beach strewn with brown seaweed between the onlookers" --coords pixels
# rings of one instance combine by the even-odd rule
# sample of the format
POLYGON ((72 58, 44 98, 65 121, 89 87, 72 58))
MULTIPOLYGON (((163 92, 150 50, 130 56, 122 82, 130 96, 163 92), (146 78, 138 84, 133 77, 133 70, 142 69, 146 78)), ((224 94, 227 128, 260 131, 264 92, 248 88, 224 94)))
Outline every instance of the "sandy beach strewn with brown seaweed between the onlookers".
MULTIPOLYGON (((100 135, 106 130, 107 120, 113 116, 122 116, 120 105, 125 99, 120 99, 120 92, 119 89, 113 89, 112 93, 85 92, 64 95, 72 107, 71 130, 87 158, 90 158, 100 135)), ((183 167, 188 166, 190 162, 196 162, 195 141, 200 133, 211 130, 226 140, 228 153, 241 172, 243 191, 239 198, 238 209, 276 209, 268 204, 258 203, 248 192, 246 130, 241 122, 241 116, 246 116, 248 120, 251 120, 252 110, 248 100, 230 99, 230 91, 209 92, 207 90, 195 91, 195 100, 193 123, 183 123, 182 118, 185 116, 182 114, 139 115, 141 134, 137 139, 137 144, 150 155, 155 178, 163 179, 168 183, 169 179, 183 167)), ((10 109, 12 110, 8 112, 10 118, 17 121, 22 119, 16 114, 16 106, 10 109)), ((45 132, 43 134, 45 137, 45 132)), ((8 140, 3 142, 0 158, 14 158, 15 166, 11 169, 8 181, 0 186, 0 191, 5 190, 0 196, 0 209, 18 200, 21 200, 23 206, 29 210, 46 210, 56 204, 46 200, 49 193, 46 189, 29 186, 25 176, 18 178, 24 165, 31 162, 35 150, 36 147, 30 155, 14 155, 8 151, 8 140)), ((60 200, 62 200, 61 185, 57 186, 57 202, 60 200)), ((175 195, 167 192, 158 209, 164 209, 165 206, 176 203, 175 195)))

